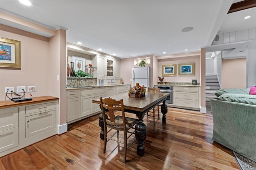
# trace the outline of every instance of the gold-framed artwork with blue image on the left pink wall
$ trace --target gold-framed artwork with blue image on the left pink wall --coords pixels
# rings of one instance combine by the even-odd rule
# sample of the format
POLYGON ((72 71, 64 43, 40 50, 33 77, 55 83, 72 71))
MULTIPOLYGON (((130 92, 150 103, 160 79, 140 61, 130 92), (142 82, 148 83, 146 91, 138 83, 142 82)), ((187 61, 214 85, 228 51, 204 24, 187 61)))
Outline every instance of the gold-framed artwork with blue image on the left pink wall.
POLYGON ((0 67, 20 68, 20 41, 0 38, 0 67))

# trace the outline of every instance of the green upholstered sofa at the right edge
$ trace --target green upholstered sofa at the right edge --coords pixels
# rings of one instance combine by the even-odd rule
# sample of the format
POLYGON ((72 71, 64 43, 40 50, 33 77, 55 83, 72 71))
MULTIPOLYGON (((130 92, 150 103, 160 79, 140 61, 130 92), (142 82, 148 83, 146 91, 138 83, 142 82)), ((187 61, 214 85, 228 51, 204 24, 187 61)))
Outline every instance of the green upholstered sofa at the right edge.
POLYGON ((213 140, 256 162, 256 95, 250 88, 220 89, 210 99, 213 140))

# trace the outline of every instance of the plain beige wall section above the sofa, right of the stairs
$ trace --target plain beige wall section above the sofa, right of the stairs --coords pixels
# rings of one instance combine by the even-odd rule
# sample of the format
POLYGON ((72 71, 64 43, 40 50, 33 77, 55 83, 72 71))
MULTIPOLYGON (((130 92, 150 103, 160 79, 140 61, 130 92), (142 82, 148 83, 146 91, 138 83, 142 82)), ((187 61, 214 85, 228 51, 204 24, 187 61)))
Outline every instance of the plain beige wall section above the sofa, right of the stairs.
POLYGON ((246 88, 246 58, 222 59, 222 88, 246 88))

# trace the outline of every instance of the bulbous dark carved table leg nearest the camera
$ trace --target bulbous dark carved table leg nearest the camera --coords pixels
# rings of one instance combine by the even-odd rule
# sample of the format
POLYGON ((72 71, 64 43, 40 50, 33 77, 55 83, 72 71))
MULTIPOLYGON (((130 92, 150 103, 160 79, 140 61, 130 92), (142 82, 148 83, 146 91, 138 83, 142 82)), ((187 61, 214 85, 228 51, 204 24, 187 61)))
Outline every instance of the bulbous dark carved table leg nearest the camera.
POLYGON ((143 115, 137 115, 139 123, 135 125, 135 136, 138 140, 137 155, 143 156, 145 153, 144 140, 146 139, 146 125, 143 123, 143 115))

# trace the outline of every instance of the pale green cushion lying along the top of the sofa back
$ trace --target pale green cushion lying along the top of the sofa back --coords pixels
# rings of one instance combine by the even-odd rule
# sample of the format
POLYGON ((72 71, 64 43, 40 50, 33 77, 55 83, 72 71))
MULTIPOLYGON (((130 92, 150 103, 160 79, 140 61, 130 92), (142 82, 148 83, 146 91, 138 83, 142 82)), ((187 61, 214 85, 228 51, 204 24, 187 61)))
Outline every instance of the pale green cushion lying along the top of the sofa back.
POLYGON ((256 105, 256 95, 224 93, 220 95, 217 99, 222 101, 232 101, 232 102, 256 105))

